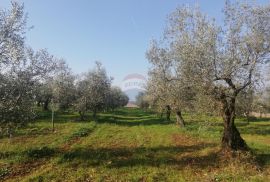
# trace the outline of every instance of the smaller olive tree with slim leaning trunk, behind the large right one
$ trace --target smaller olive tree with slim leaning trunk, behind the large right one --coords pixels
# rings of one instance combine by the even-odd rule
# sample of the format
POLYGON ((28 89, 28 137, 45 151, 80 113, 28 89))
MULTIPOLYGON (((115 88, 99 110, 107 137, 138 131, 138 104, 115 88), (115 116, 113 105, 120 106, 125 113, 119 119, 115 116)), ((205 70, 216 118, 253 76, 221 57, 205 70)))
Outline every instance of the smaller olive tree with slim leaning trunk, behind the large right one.
POLYGON ((195 92, 183 73, 175 52, 161 46, 154 41, 147 52, 147 58, 152 64, 148 92, 161 100, 159 103, 166 108, 168 120, 172 109, 176 113, 177 123, 184 127, 182 111, 193 107, 195 92))

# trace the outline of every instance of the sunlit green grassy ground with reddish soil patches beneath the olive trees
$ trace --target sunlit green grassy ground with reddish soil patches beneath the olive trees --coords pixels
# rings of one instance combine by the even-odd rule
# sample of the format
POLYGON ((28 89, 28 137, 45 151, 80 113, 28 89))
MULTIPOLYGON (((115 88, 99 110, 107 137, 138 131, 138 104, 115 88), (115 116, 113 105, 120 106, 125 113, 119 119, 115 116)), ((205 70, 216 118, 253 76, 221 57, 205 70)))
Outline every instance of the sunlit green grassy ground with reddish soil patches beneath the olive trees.
POLYGON ((139 109, 100 114, 96 122, 77 117, 57 114, 52 132, 44 113, 0 139, 0 180, 270 181, 270 119, 237 120, 254 162, 219 153, 220 118, 186 114, 182 129, 139 109))

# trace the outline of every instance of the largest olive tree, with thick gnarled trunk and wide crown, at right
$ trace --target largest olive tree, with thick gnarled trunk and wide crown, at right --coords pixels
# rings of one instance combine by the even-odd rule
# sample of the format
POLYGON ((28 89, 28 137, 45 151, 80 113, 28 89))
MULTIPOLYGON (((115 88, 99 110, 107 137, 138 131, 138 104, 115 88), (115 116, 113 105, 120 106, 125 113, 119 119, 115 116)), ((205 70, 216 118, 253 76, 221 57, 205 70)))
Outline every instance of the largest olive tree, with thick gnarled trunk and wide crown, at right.
POLYGON ((169 18, 166 37, 189 83, 221 104, 223 149, 246 150, 234 123, 236 99, 269 60, 270 5, 226 1, 224 14, 220 26, 199 8, 180 7, 169 18))

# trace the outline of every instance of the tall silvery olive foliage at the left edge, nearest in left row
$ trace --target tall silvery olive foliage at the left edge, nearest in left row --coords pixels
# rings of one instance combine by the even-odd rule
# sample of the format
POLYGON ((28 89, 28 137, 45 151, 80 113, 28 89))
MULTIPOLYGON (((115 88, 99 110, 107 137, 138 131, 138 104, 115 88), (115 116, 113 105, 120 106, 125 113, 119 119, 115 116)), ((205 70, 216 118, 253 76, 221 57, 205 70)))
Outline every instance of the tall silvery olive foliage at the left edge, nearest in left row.
POLYGON ((37 83, 55 66, 46 51, 25 46, 26 16, 22 5, 0 10, 0 130, 12 136, 14 128, 35 116, 37 83))

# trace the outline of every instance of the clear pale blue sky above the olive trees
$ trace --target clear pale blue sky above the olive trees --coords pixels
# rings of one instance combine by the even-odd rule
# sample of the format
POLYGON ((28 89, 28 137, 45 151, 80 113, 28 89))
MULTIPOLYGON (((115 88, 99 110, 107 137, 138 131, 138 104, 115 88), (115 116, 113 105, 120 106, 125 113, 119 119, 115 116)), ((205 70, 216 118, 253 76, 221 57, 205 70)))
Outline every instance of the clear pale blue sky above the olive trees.
MULTIPOLYGON (((145 52, 177 6, 199 4, 222 20, 223 0, 19 0, 28 12, 27 44, 63 57, 75 73, 101 61, 119 85, 129 73, 147 75, 145 52)), ((259 0, 259 3, 270 0, 259 0)), ((8 8, 9 0, 0 0, 8 8)))

